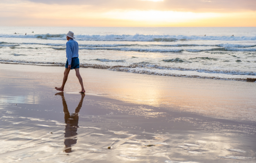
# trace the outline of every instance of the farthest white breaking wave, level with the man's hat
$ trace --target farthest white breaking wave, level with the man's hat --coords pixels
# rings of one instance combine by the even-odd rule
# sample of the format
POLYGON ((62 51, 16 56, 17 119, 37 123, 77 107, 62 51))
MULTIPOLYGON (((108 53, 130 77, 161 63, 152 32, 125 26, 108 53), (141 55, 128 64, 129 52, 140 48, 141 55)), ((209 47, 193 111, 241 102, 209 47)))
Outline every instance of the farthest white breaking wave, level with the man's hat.
MULTIPOLYGON (((3 38, 40 38, 40 39, 61 39, 65 40, 65 34, 41 34, 41 35, 23 35, 23 34, 0 34, 3 38)), ((77 40, 94 41, 146 41, 146 42, 175 42, 177 40, 256 40, 256 36, 184 36, 184 35, 75 35, 77 40)))

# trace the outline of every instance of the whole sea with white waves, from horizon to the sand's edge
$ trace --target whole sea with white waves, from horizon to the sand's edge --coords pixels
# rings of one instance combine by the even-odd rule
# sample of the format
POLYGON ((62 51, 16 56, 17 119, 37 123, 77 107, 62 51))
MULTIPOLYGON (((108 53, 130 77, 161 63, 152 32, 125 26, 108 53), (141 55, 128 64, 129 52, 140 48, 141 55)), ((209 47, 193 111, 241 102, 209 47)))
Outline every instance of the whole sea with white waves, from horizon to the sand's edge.
POLYGON ((0 27, 0 62, 63 66, 68 31, 80 67, 237 81, 256 75, 256 27, 0 27))

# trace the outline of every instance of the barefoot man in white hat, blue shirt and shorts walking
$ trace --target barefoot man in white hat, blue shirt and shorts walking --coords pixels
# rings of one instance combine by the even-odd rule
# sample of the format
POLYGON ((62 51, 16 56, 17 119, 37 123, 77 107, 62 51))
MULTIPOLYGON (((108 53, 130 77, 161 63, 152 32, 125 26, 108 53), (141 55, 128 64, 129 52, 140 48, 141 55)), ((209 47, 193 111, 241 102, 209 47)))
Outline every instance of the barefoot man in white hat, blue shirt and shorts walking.
POLYGON ((67 36, 68 42, 66 43, 66 57, 67 62, 64 71, 64 77, 60 88, 55 87, 56 90, 63 91, 65 83, 68 79, 70 69, 75 69, 76 77, 78 77, 79 83, 81 84, 82 90, 79 93, 85 93, 83 88, 83 80, 79 73, 79 59, 78 59, 78 43, 74 40, 74 33, 69 31, 67 36))

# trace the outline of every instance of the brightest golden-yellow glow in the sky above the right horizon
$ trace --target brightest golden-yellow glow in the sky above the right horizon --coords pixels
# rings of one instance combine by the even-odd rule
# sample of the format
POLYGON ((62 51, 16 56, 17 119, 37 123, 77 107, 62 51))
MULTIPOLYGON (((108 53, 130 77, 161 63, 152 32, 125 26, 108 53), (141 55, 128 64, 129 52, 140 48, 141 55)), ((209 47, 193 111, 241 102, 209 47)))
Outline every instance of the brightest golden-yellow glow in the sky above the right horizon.
POLYGON ((122 21, 126 26, 151 27, 241 27, 256 26, 256 12, 244 13, 193 13, 174 11, 114 10, 102 15, 110 20, 122 21), (127 22, 126 22, 127 21, 127 22), (244 22, 241 24, 241 22, 244 22), (246 23, 245 23, 246 22, 246 23))

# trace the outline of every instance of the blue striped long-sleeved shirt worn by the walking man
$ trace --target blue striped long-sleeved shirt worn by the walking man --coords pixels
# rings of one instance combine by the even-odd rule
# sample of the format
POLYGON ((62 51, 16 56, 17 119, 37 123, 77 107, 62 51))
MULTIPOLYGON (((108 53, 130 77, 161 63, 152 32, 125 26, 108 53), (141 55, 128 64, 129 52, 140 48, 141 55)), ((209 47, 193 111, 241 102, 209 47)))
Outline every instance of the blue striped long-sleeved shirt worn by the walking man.
POLYGON ((72 58, 78 57, 78 42, 72 38, 66 43, 66 57, 68 59, 68 65, 71 65, 72 58))

